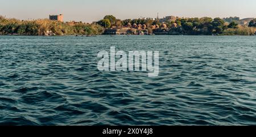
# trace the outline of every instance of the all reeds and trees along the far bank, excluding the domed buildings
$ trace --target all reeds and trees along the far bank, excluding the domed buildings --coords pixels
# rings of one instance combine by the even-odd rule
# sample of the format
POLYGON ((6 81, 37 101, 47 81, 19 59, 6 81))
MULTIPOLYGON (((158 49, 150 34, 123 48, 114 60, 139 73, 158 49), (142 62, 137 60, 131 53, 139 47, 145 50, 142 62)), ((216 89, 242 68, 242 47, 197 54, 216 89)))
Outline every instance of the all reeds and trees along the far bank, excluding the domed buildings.
POLYGON ((0 16, 0 35, 101 35, 106 28, 146 25, 149 33, 166 35, 255 35, 256 19, 248 26, 238 25, 238 17, 230 18, 176 18, 168 22, 152 19, 120 20, 106 15, 95 24, 63 23, 48 19, 17 20, 0 16), (228 23, 228 22, 229 23, 228 23))

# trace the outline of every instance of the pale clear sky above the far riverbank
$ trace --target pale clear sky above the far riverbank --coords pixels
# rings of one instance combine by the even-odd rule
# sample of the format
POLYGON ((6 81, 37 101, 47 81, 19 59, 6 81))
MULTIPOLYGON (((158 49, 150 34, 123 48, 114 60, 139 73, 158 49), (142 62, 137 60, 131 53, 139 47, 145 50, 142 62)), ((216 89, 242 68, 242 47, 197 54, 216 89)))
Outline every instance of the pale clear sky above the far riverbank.
POLYGON ((0 0, 0 15, 39 19, 64 14, 64 20, 93 22, 105 15, 119 19, 163 16, 256 18, 256 0, 0 0))

